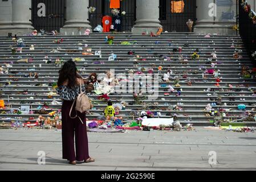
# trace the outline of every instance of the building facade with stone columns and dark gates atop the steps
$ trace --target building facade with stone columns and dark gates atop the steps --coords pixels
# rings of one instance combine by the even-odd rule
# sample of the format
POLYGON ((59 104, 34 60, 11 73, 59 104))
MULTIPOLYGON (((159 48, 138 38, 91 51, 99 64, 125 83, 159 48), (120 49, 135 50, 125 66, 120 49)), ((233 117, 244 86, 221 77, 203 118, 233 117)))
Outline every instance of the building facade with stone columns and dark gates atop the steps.
MULTIPOLYGON (((83 34, 102 24, 111 15, 111 0, 0 0, 0 35, 23 35, 32 30, 60 31, 64 35, 83 34), (89 7, 96 8, 90 13, 89 7)), ((255 0, 250 0, 256 9, 255 0)), ((197 34, 236 34, 237 0, 120 0, 121 31, 188 32, 193 20, 197 34)))

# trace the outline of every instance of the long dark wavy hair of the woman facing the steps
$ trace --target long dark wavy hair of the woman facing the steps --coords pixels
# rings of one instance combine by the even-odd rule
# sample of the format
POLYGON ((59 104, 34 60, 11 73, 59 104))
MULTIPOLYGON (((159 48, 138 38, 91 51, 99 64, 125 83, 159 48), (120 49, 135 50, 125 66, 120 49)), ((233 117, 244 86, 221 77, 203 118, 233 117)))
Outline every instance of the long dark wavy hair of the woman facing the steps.
POLYGON ((61 86, 65 81, 68 81, 67 86, 71 88, 76 85, 76 78, 81 77, 77 73, 75 62, 70 59, 60 69, 57 85, 61 86))

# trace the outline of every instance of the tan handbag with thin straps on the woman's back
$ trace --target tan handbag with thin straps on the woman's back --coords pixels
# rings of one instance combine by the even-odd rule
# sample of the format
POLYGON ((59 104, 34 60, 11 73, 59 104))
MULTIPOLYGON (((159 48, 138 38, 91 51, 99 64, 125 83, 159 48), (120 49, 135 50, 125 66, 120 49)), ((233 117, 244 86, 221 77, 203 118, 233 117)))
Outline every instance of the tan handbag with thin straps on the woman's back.
POLYGON ((91 100, 88 98, 86 93, 82 92, 82 84, 80 81, 80 94, 78 95, 78 97, 76 97, 76 99, 74 100, 74 102, 70 108, 70 118, 74 119, 74 118, 78 117, 80 119, 80 121, 83 123, 82 119, 78 116, 77 111, 79 111, 80 113, 83 113, 89 109, 92 109, 92 107, 94 107, 94 105, 92 105, 91 100), (74 107, 75 101, 76 101, 76 107, 75 107, 76 115, 75 115, 75 117, 71 117, 71 112, 74 107))

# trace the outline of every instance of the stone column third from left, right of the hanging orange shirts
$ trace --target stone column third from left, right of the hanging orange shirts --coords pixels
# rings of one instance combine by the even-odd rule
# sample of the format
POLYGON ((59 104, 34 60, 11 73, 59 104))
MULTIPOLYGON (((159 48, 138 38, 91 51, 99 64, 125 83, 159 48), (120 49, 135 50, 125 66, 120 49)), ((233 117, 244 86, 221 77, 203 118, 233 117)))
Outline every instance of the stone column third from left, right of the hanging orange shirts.
POLYGON ((136 22, 132 28, 133 34, 142 32, 157 32, 162 27, 159 20, 159 1, 139 0, 136 1, 136 22))

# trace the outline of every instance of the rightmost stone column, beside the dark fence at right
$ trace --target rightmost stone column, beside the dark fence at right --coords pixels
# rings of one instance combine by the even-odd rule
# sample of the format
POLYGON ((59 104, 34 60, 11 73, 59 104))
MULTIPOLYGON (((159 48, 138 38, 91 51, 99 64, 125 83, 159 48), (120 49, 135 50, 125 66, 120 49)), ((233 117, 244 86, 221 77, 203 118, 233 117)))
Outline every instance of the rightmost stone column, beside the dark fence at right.
POLYGON ((194 32, 196 34, 235 35, 236 31, 233 30, 233 26, 236 24, 236 0, 232 1, 231 5, 218 5, 214 0, 197 0, 197 21, 194 32), (230 18, 224 18, 227 16, 222 16, 222 13, 230 14, 230 18), (233 13, 234 18, 231 17, 233 13))

